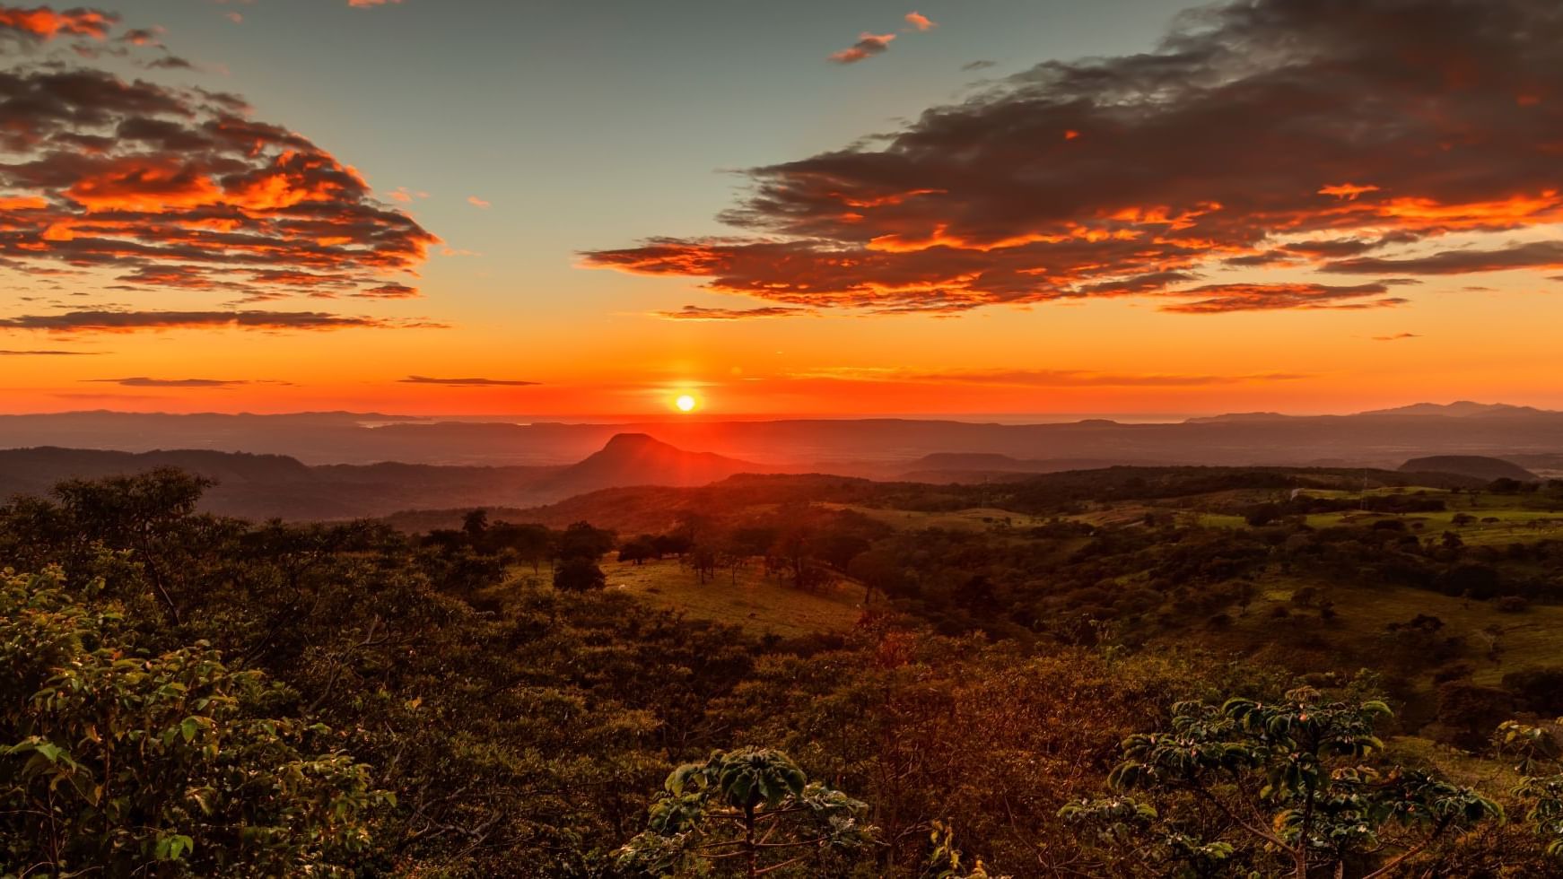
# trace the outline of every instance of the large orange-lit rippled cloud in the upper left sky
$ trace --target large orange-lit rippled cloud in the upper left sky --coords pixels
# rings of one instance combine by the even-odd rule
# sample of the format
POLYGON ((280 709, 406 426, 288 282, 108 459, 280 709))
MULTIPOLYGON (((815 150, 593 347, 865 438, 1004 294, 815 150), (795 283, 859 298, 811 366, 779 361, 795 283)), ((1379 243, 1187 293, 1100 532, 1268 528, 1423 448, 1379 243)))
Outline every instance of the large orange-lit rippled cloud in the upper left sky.
MULTIPOLYGON (((116 23, 81 9, 39 14, 0 6, 0 28, 102 39, 116 23)), ((148 30, 113 47, 166 52, 148 30)), ((258 276, 286 265, 367 290, 416 270, 438 242, 350 165, 255 119, 238 95, 72 59, 95 56, 0 69, 0 259, 13 269, 108 269, 130 286, 255 294, 258 276)))

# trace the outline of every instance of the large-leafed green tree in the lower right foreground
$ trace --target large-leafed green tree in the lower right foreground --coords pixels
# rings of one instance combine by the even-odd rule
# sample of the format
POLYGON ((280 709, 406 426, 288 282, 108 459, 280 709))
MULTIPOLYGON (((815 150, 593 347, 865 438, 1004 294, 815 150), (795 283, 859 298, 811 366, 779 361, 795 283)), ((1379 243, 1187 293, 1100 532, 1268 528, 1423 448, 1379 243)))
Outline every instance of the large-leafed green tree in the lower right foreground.
MULTIPOLYGON (((1268 848, 1296 879, 1314 871, 1346 876, 1349 867, 1361 879, 1385 876, 1433 843, 1502 817, 1496 802, 1468 787, 1372 765, 1383 749, 1374 726, 1388 715, 1382 701, 1325 703, 1308 687, 1279 703, 1179 703, 1171 731, 1124 742, 1125 759, 1108 784, 1163 796, 1168 809, 1219 813, 1230 834, 1261 846, 1254 857, 1274 857, 1268 848)), ((1063 813, 1099 818, 1110 802, 1082 802, 1063 813)), ((1135 840, 1152 834, 1185 851, 1227 845, 1188 838, 1175 821, 1155 809, 1143 812, 1136 801, 1116 802, 1139 813, 1138 824, 1125 824, 1135 840)))

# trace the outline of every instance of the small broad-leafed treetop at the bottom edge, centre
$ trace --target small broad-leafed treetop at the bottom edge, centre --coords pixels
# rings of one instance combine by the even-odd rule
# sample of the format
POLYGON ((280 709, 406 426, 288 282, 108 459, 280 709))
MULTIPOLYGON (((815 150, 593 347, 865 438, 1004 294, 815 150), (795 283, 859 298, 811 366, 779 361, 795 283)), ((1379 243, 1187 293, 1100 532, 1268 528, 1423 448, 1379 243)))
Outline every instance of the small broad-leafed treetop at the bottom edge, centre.
POLYGON ((874 840, 867 804, 808 781, 791 757, 769 748, 714 751, 667 776, 647 831, 616 854, 641 876, 716 870, 753 879, 786 867, 849 859, 874 840))

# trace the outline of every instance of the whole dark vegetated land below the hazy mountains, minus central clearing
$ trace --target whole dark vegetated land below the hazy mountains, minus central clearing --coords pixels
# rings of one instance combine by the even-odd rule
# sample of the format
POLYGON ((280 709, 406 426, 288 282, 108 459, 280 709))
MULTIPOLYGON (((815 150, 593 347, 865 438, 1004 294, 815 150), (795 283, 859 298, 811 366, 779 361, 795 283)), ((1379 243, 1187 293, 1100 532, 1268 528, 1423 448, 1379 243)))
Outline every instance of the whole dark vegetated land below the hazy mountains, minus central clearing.
POLYGON ((763 478, 419 536, 66 482, 0 507, 0 876, 1557 874, 1563 667, 1454 614, 1563 635, 1563 493, 1346 481, 763 478))

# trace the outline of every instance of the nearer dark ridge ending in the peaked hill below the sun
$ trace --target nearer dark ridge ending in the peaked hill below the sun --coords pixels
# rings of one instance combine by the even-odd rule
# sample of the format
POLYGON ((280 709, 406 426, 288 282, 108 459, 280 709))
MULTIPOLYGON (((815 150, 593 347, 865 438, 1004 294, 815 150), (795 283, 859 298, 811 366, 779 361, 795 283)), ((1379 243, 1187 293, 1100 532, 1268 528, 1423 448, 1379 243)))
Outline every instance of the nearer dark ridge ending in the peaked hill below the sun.
POLYGON ((44 493, 72 478, 178 467, 217 481, 205 509, 245 518, 359 518, 405 509, 539 506, 621 486, 705 486, 772 473, 747 461, 621 434, 566 467, 316 465, 280 454, 203 450, 122 453, 70 448, 0 451, 0 498, 44 493))

